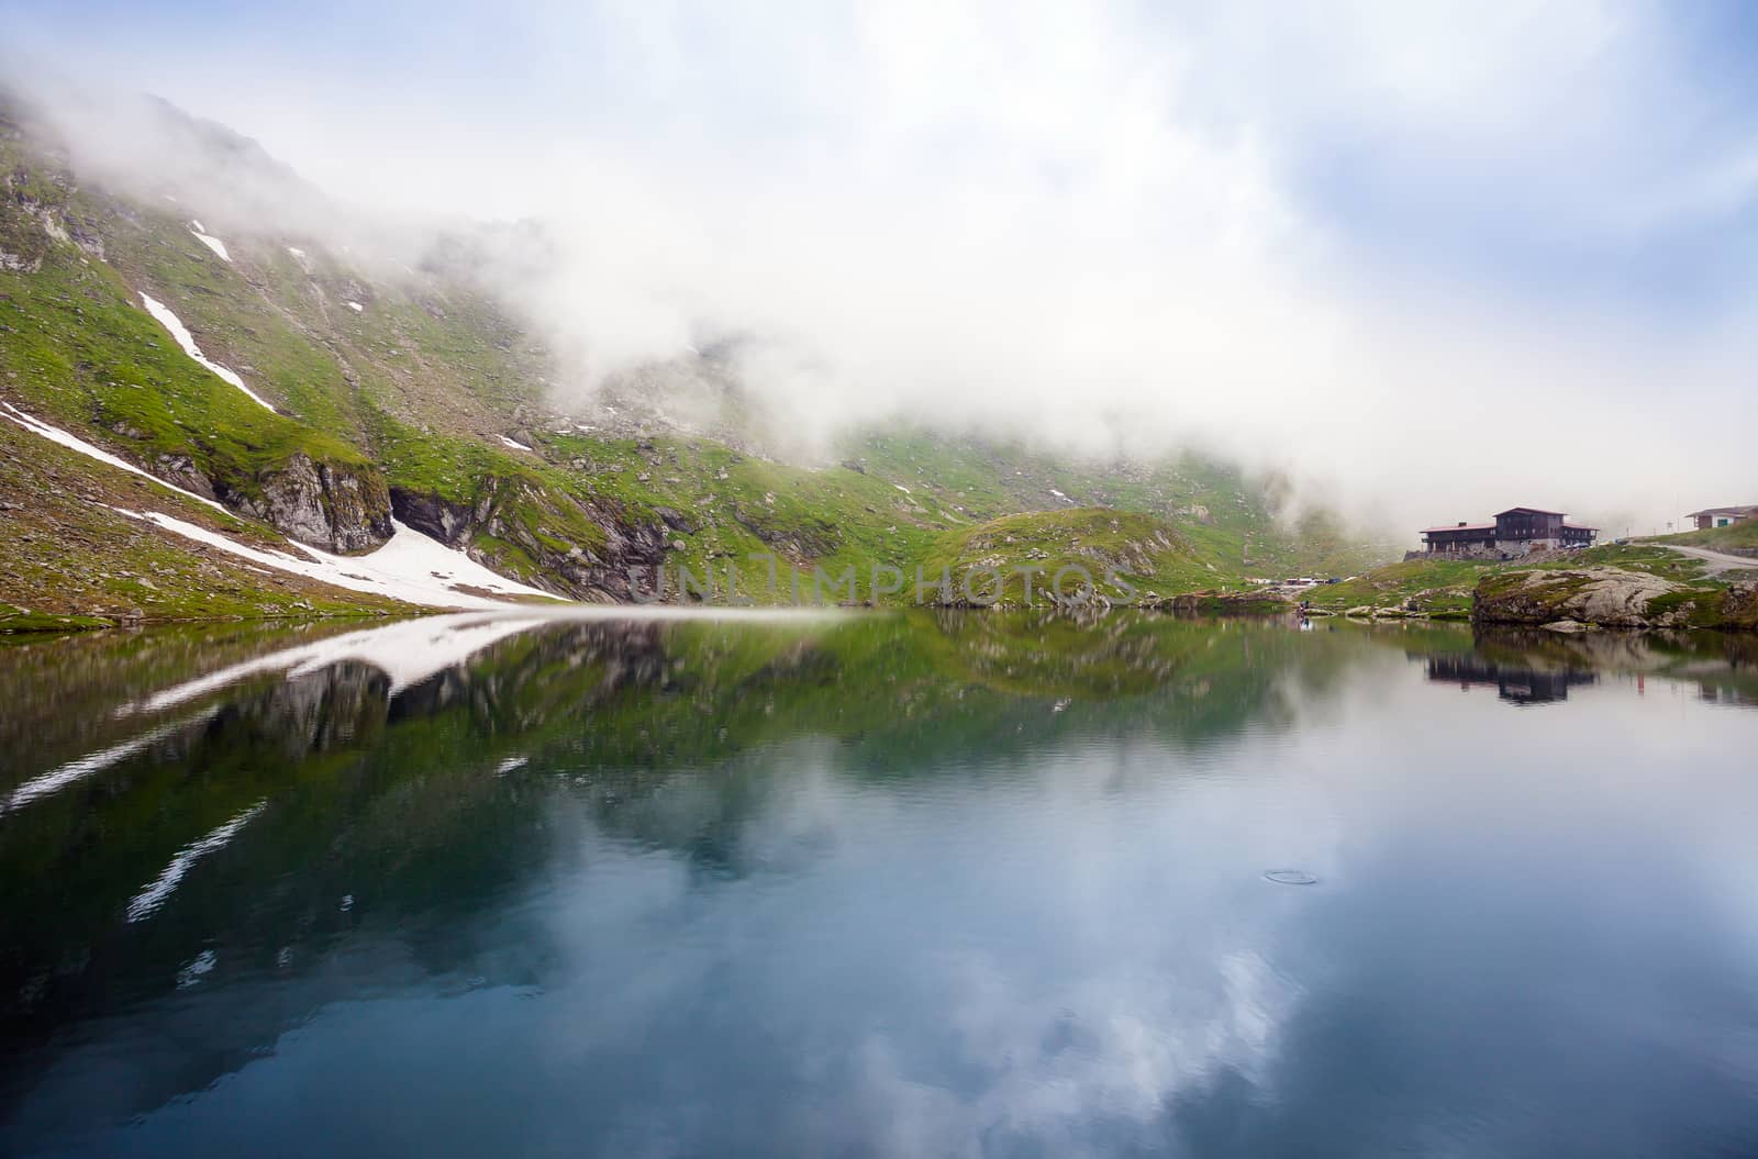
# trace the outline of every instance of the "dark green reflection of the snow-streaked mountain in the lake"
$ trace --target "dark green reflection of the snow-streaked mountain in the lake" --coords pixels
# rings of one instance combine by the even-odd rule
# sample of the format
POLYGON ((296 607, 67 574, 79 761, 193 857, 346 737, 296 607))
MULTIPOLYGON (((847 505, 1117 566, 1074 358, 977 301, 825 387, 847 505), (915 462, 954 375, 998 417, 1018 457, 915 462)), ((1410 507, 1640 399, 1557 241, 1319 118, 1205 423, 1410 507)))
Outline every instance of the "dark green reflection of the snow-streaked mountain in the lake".
MULTIPOLYGON (((84 640, 88 732, 53 698, 14 700, 12 735, 42 735, 33 712, 58 733, 53 751, 0 762, 0 1038, 19 1046, 0 1059, 0 1120, 77 1027, 148 1018, 179 987, 200 987, 227 1029, 200 1055, 165 1045, 128 1113, 213 1083, 348 997, 339 955, 452 985, 503 902, 578 856, 584 834, 742 878, 774 856, 751 848, 751 818, 795 788, 805 751, 875 793, 1106 746, 1148 747, 1164 756, 1153 776, 1178 777, 1183 756, 1292 728, 1396 651, 1433 652, 1429 679, 1515 703, 1595 681, 1573 654, 1519 640, 1494 660, 1484 640, 1459 654, 1463 633, 432 617, 257 652, 204 644, 204 665, 167 658, 171 633, 84 640)), ((1684 660, 1693 681, 1728 670, 1719 654, 1684 660)), ((46 661, 0 652, 0 691, 46 661)), ((508 953, 501 981, 541 973, 543 944, 508 953)))

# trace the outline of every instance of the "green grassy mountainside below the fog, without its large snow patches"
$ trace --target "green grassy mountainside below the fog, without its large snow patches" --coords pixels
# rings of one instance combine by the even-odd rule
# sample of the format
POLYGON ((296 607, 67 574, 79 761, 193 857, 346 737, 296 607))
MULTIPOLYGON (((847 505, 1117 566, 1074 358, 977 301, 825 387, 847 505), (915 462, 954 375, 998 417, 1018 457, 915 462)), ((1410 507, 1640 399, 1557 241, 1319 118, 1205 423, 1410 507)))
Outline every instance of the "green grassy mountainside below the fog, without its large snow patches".
MULTIPOLYGON (((202 132, 220 134, 239 164, 255 155, 225 130, 202 132)), ((819 568, 870 577, 877 565, 914 579, 992 556, 1051 572, 1116 563, 1143 591, 1176 594, 1380 558, 1322 514, 1289 521, 1275 480, 1194 454, 1081 463, 893 426, 849 431, 821 461, 781 461, 714 355, 614 383, 636 417, 607 420, 605 408, 582 420, 548 401, 556 366, 543 345, 473 278, 483 239, 443 239, 417 266, 390 269, 299 230, 227 222, 225 208, 86 181, 28 106, 0 98, 0 401, 218 499, 234 524, 167 496, 155 510, 227 535, 357 554, 381 545, 396 517, 503 575, 584 600, 636 598, 663 573, 670 600, 701 598, 712 575, 712 598, 726 598, 730 580, 740 596, 791 601, 819 568), (199 213, 225 255, 197 236, 199 213), (142 295, 274 410, 185 354, 142 295), (721 392, 712 434, 650 417, 668 382, 721 392), (643 383, 661 392, 645 410, 643 383)), ((0 434, 23 499, 0 510, 0 535, 26 535, 26 514, 76 526, 51 501, 49 470, 93 494, 146 485, 40 447, 14 422, 0 434)), ((171 566, 216 554, 109 512, 77 515, 91 577, 139 572, 146 556, 171 566)), ((193 579, 181 594, 98 579, 74 594, 54 549, 21 556, 0 570, 0 601, 16 609, 200 614, 193 579)), ((323 586, 290 591, 302 600, 313 587, 323 586)), ((281 614, 285 603, 241 589, 213 614, 281 614)), ((383 603, 327 589, 313 607, 383 603)))

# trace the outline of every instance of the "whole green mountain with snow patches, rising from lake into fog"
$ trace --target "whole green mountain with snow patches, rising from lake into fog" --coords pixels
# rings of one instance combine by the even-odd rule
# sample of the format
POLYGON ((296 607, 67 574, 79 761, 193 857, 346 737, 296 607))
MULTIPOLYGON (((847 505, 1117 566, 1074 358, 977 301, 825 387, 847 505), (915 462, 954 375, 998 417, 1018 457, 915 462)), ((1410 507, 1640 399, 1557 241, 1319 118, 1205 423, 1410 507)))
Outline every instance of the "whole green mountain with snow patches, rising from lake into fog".
POLYGON ((737 343, 561 405, 561 361, 483 276, 541 262, 540 229, 399 232, 223 127, 118 120, 160 158, 146 179, 0 97, 0 626, 617 601, 661 565, 791 600, 816 566, 1046 540, 1162 594, 1380 554, 1199 454, 1081 463, 926 424, 786 454, 737 343))

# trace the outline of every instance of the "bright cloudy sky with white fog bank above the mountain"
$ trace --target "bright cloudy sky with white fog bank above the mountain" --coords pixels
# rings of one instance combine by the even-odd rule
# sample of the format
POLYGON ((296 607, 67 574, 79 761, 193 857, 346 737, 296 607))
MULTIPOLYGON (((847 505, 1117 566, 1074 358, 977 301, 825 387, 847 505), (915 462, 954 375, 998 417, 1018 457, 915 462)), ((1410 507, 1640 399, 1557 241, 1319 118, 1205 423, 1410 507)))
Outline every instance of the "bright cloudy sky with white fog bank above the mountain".
POLYGON ((1751 484, 1751 287, 1686 313, 1547 248, 1617 269, 1751 209, 1753 123, 1644 4, 436 25, 371 69, 294 46, 287 88, 243 84, 276 49, 225 28, 209 70, 128 76, 345 197, 543 218, 559 264, 506 287, 587 385, 738 334, 795 431, 1204 440, 1405 522, 1533 501, 1649 524, 1751 484), (499 86, 466 53, 489 26, 499 86), (1317 195, 1336 171, 1366 185, 1317 195))

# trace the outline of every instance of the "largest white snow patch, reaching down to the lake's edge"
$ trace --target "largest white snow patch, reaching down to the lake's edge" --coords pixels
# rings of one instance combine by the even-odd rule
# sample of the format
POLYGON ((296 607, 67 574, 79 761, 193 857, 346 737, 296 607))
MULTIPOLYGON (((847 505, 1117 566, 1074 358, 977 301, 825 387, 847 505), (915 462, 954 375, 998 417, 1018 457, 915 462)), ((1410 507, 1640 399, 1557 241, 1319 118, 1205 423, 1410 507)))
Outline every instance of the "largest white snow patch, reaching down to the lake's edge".
POLYGON ((260 563, 276 572, 290 572, 334 587, 389 596, 404 603, 434 609, 499 609, 506 607, 505 596, 556 600, 552 593, 498 575, 464 552, 427 538, 397 521, 390 522, 394 528, 390 540, 374 552, 366 556, 331 556, 313 547, 299 547, 299 550, 309 556, 308 559, 301 559, 281 550, 246 547, 218 531, 199 528, 162 512, 116 510, 130 519, 142 519, 183 538, 218 547, 223 552, 260 563), (503 598, 494 600, 489 598, 490 594, 503 598))

